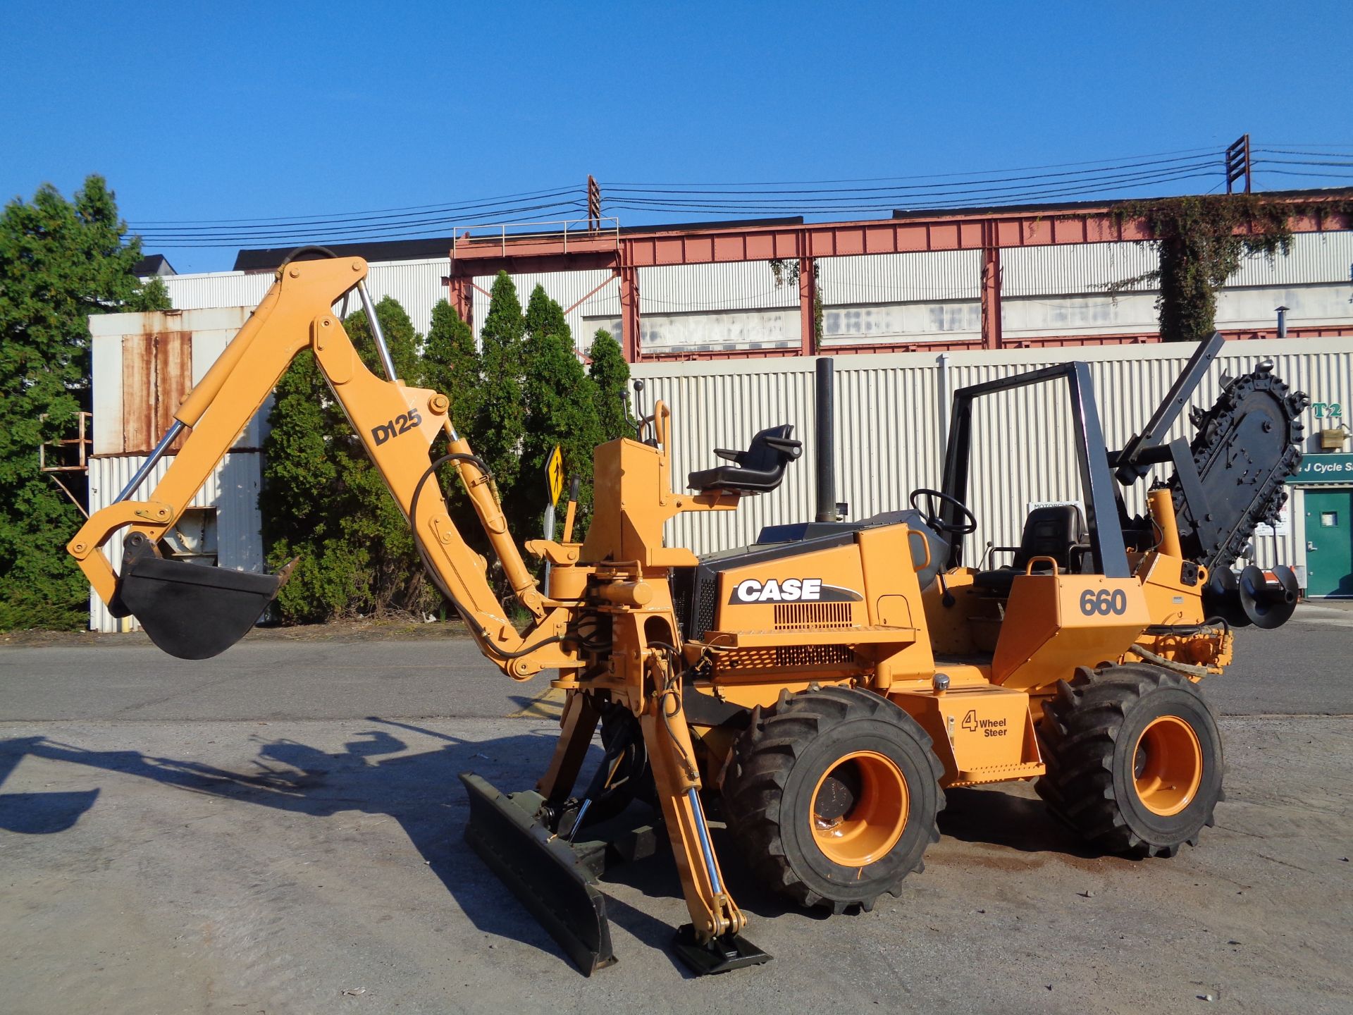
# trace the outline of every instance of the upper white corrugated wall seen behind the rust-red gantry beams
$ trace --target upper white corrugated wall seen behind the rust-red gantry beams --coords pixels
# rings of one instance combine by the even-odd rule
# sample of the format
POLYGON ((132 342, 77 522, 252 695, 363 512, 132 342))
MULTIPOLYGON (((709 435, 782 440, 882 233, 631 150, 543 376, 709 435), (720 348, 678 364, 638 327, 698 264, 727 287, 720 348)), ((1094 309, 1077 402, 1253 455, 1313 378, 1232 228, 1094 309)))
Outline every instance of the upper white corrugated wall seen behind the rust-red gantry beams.
MULTIPOLYGON (((1104 287, 1151 271, 1155 264, 1149 244, 1004 249, 1007 337, 1154 330, 1154 291, 1147 283, 1138 283, 1118 299, 1111 299, 1104 287)), ((448 258, 377 263, 371 265, 368 286, 376 299, 398 299, 414 328, 426 334, 432 307, 446 295, 442 277, 449 273, 448 258)), ((522 304, 541 284, 568 310, 568 325, 582 349, 598 328, 620 329, 620 290, 610 279, 609 271, 514 276, 522 304)), ((821 258, 824 344, 976 338, 980 279, 976 250, 821 258)), ((1346 291, 1350 279, 1353 231, 1296 235, 1291 256, 1252 257, 1241 265, 1222 292, 1218 325, 1269 325, 1279 303, 1292 307, 1288 321, 1293 326, 1348 323, 1353 319, 1346 291), (1329 286, 1338 291, 1316 291, 1329 286)), ((164 280, 180 309, 253 307, 272 284, 272 275, 215 272, 164 280)), ((488 290, 492 279, 479 277, 475 283, 488 290)), ((639 299, 643 345, 652 351, 758 349, 798 342, 798 288, 787 277, 777 281, 766 261, 641 268, 639 299)), ((354 303, 348 307, 354 309, 354 303)), ((488 298, 476 290, 476 334, 487 313, 488 298)))

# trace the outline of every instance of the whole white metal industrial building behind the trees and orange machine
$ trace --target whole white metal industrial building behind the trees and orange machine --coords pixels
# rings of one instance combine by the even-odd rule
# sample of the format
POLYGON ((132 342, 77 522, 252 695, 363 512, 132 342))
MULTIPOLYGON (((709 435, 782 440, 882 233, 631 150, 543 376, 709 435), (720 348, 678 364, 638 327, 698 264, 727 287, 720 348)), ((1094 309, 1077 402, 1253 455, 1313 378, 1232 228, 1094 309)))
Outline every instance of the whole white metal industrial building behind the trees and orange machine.
MULTIPOLYGON (((962 235, 967 219, 981 219, 977 225, 984 230, 985 222, 994 222, 982 237, 1005 235, 1000 229, 1011 222, 1017 226, 1016 238, 1046 229, 1032 214, 1000 221, 971 215, 955 235, 962 235)), ((932 230, 944 223, 921 225, 932 230)), ((916 226, 907 221, 898 229, 916 226)), ((1353 387, 1353 231, 1346 223, 1307 226, 1298 230, 1289 256, 1249 258, 1219 294, 1218 328, 1242 341, 1227 342, 1222 367, 1196 398, 1211 403, 1223 369, 1241 374, 1264 359, 1273 360, 1292 387, 1311 395, 1304 417, 1311 457, 1292 484, 1284 524, 1256 539, 1256 559, 1295 564, 1310 594, 1353 595, 1353 456, 1344 453, 1342 429, 1353 387), (1270 337, 1279 333, 1279 307, 1291 337, 1270 337)), ((809 231, 828 226, 751 229, 773 238, 789 230, 796 242, 810 245, 809 231)), ((714 231, 716 252, 718 235, 739 233, 714 231)), ((693 227, 690 235, 698 238, 698 233, 693 227)), ((773 267, 751 254, 727 263, 587 268, 590 254, 578 254, 579 241, 570 235, 566 227, 561 242, 559 235, 540 242, 528 237, 528 248, 547 253, 509 261, 560 269, 517 272, 518 294, 525 300, 537 283, 544 286, 567 309, 580 349, 597 328, 624 336, 633 375, 648 382, 645 402, 663 398, 675 413, 678 482, 685 472, 712 464, 712 448, 741 447, 763 426, 792 422, 805 437, 805 459, 790 468, 778 493, 750 498, 733 513, 674 521, 671 541, 697 552, 744 544, 762 525, 813 514, 815 360, 801 355, 810 340, 804 313, 810 300, 820 299, 823 306, 821 336, 812 337, 812 349, 836 356, 838 498, 848 503, 852 518, 904 505, 913 487, 939 484, 948 395, 958 387, 1068 359, 1088 360, 1105 438, 1119 445, 1146 420, 1185 359, 1177 346, 1158 344, 1153 290, 1137 284, 1116 295, 1107 292, 1109 284, 1155 264, 1150 245, 1132 240, 1101 234, 1099 242, 1073 237, 1003 246, 1005 241, 992 238, 996 246, 982 246, 978 237, 974 249, 844 253, 815 264, 800 261, 801 268, 815 269, 809 286, 802 272, 796 283, 785 263, 773 267), (574 250, 563 261, 551 253, 570 242, 574 250)), ((609 242, 598 241, 597 233, 589 235, 594 246, 609 242)), ((616 234, 617 249, 635 242, 635 234, 626 235, 616 234)), ((674 235, 681 238, 664 233, 662 242, 674 235)), ((433 306, 448 291, 453 306, 482 322, 491 277, 474 275, 475 265, 492 267, 503 258, 457 263, 428 256, 428 244, 436 242, 379 244, 344 253, 368 257, 372 295, 398 299, 417 329, 426 330, 433 306), (418 256, 379 260, 410 248, 418 256)), ((464 256, 464 241, 455 242, 464 256)), ((866 245, 874 249, 867 237, 866 245)), ((509 248, 505 234, 503 252, 509 248)), ((262 298, 276 258, 257 253, 241 252, 241 271, 161 276, 176 311, 91 318, 92 510, 116 497, 168 425, 179 398, 262 298)), ((356 310, 356 303, 348 309, 356 310)), ((1030 503, 1074 499, 1065 406, 1055 394, 1031 390, 982 410, 978 421, 993 451, 973 463, 971 506, 982 526, 969 537, 969 560, 981 556, 988 541, 1016 543, 1030 503)), ((226 567, 262 567, 257 490, 265 411, 199 494, 198 510, 180 526, 185 531, 179 552, 226 567)), ((142 495, 165 467, 160 464, 142 495)), ((116 566, 119 544, 114 543, 116 566)), ((93 602, 92 627, 115 629, 116 623, 93 602)))

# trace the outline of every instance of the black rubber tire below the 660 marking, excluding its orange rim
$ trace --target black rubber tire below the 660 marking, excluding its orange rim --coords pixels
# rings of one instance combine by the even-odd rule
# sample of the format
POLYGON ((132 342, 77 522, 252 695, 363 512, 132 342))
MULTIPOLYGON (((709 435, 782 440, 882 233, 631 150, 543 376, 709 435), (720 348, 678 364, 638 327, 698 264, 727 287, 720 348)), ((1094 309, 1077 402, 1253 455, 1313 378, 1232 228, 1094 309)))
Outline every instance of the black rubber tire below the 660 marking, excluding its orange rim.
POLYGON ((1222 736, 1197 686, 1155 666, 1080 670, 1061 681, 1043 702, 1038 725, 1047 774, 1038 794, 1051 811, 1108 853, 1173 857, 1185 842, 1197 846, 1224 798, 1222 736), (1203 771, 1189 804, 1176 815, 1149 809, 1134 781, 1137 746, 1161 716, 1188 723, 1197 738, 1203 771))

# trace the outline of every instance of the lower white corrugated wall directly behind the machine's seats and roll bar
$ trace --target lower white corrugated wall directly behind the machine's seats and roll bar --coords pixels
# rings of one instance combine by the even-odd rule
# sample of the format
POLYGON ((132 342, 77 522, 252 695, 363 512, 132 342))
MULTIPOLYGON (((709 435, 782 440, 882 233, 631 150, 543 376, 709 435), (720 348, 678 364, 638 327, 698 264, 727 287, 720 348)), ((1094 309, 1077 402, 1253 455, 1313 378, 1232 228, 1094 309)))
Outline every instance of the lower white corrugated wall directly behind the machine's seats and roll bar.
MULTIPOLYGON (((940 390, 940 357, 930 353, 839 357, 836 499, 850 503, 851 518, 863 518, 905 506, 919 486, 939 487, 940 406, 947 417, 948 394, 1073 359, 1091 364, 1105 441, 1122 447, 1164 399, 1189 352, 1143 345, 1068 349, 1065 355, 1049 349, 954 353, 944 357, 948 392, 940 390)), ((1193 403, 1211 406, 1223 372, 1239 375, 1261 360, 1272 360, 1279 376, 1314 401, 1346 403, 1353 392, 1348 341, 1268 340, 1229 342, 1193 403)), ((633 374, 648 386, 647 410, 652 398, 672 409, 672 476, 678 487, 685 486, 687 472, 717 464, 713 448, 744 448, 766 426, 792 422, 805 443, 802 459, 789 467, 779 491, 747 498, 736 512, 681 516, 670 525, 670 543, 697 552, 728 549, 755 540, 763 525, 813 517, 813 360, 640 364, 633 374)), ((1310 410, 1304 422, 1310 436, 1316 426, 1310 410)), ((1065 384, 1042 384, 977 403, 969 506, 980 528, 967 537, 969 562, 981 558, 988 541, 1017 544, 1031 502, 1080 499, 1069 424, 1065 384)), ((1173 436, 1192 436, 1187 413, 1173 436)), ((1130 491, 1134 510, 1143 509, 1143 490, 1139 484, 1130 491)), ((1299 509, 1295 502, 1287 535, 1256 540, 1258 563, 1304 566, 1299 509)))

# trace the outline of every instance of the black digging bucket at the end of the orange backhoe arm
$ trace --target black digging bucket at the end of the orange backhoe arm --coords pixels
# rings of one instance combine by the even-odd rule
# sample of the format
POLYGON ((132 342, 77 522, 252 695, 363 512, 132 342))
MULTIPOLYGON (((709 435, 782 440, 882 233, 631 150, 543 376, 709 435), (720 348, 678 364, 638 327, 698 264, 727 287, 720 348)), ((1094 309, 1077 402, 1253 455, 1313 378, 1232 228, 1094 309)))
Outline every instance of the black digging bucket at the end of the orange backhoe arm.
POLYGON ((210 659, 249 633, 281 581, 283 575, 129 554, 116 601, 169 655, 210 659))

